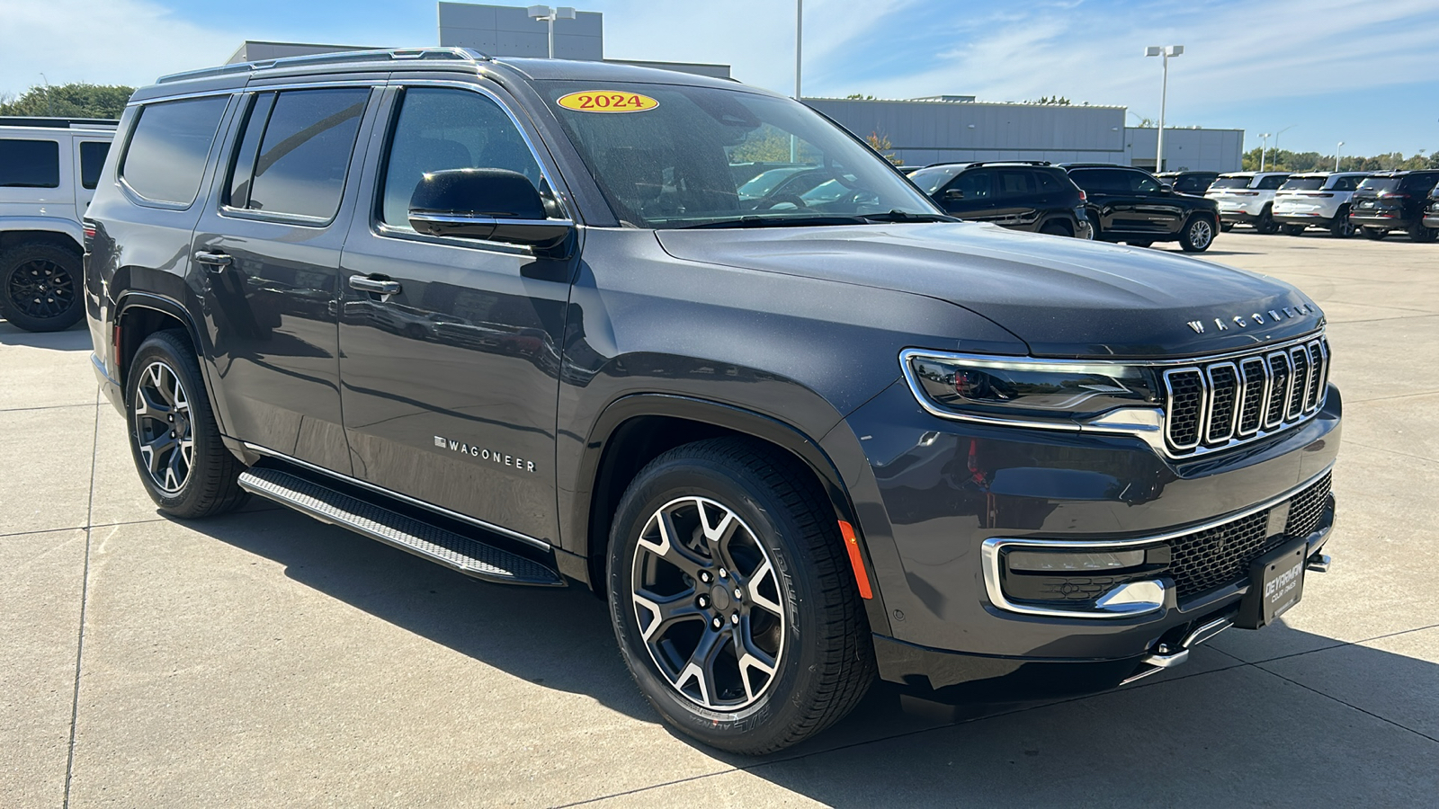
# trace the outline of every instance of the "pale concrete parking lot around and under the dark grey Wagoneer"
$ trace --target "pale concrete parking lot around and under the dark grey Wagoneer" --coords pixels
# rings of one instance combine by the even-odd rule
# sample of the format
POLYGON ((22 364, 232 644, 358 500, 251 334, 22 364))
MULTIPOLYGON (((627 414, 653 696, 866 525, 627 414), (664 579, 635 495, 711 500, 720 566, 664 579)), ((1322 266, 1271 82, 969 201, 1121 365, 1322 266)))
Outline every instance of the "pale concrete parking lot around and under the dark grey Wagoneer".
POLYGON ((1433 805, 1439 245, 1225 233, 1344 392, 1333 571, 1121 691, 876 688, 774 759, 658 721, 604 603, 481 584, 299 514, 155 512, 83 330, 0 322, 0 806, 1433 805))

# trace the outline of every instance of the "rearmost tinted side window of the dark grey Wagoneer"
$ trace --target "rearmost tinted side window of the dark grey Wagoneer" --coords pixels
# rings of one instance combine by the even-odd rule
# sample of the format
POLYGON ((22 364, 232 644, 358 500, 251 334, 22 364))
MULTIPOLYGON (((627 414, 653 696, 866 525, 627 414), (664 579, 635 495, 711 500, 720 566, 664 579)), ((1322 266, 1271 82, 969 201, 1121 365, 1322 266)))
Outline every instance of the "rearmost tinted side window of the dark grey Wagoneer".
POLYGON ((119 176, 140 196, 190 204, 220 128, 226 95, 148 104, 140 111, 119 176))

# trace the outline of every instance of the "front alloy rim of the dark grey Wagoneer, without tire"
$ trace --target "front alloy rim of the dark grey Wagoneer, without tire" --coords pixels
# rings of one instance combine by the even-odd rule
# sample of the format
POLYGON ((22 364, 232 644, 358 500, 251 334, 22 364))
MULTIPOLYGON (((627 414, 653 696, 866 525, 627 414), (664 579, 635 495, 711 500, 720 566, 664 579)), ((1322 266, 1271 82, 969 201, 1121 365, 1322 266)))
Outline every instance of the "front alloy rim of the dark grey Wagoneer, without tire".
POLYGON ((760 700, 786 616, 774 563, 744 520, 704 497, 672 500, 645 523, 633 564, 636 626, 671 687, 714 711, 760 700))

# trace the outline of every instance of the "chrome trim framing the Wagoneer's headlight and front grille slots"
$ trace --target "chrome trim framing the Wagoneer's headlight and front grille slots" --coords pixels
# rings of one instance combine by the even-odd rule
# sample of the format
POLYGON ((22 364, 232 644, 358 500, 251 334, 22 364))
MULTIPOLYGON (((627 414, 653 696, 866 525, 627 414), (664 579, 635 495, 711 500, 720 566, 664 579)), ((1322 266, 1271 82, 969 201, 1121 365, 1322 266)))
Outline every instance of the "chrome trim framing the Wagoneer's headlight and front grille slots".
MULTIPOLYGON (((1285 367, 1289 371, 1289 386, 1285 389, 1285 396, 1292 393, 1294 383, 1294 367, 1288 351, 1295 345, 1304 345, 1307 343, 1320 343, 1324 345, 1324 331, 1311 331, 1302 337, 1292 338, 1278 345, 1261 345, 1250 350, 1240 351, 1225 351, 1222 354, 1203 356, 1203 357, 1186 357, 1174 360, 1143 360, 1135 358, 1131 361, 1121 360, 1052 360, 1043 357, 1004 357, 997 354, 968 354, 963 351, 940 351, 932 348, 905 348, 899 351, 899 371, 904 374, 905 383, 909 386, 909 393, 914 396, 920 407, 924 409, 931 416, 938 416, 951 422, 967 422, 974 425, 989 425, 989 426, 1004 426, 1004 428, 1029 428, 1029 429, 1043 429, 1043 430, 1065 430, 1065 432, 1086 432, 1086 433, 1102 433, 1102 435, 1130 435, 1144 440, 1156 455, 1171 461, 1189 461, 1194 458, 1202 458, 1213 452, 1223 452, 1226 449, 1235 448, 1242 443, 1250 443, 1278 435, 1291 428, 1299 426, 1308 419, 1318 415, 1324 409, 1324 403, 1328 399, 1327 386, 1320 390, 1318 399, 1315 402, 1314 410, 1301 415, 1297 419, 1288 419, 1281 413, 1281 419, 1271 425, 1268 423, 1269 410, 1269 394, 1274 390, 1274 357, 1284 357, 1285 367), (1200 374, 1200 379, 1206 379, 1203 371, 1204 366, 1216 361, 1239 360, 1239 358, 1261 358, 1265 361, 1265 399, 1261 403, 1259 412, 1259 428, 1250 435, 1235 435, 1229 440, 1215 445, 1204 445, 1204 429, 1200 426, 1199 442, 1189 449, 1171 448, 1168 443, 1168 419, 1166 417, 1163 406, 1135 406, 1135 407, 1120 407, 1117 410, 1109 410, 1101 413, 1094 419, 1086 422, 1078 422, 1073 419, 1033 419, 1033 417, 1014 417, 1006 419, 999 416, 987 416, 977 413, 960 413, 955 410, 947 410, 940 407, 924 393, 924 387, 915 377, 912 360, 935 360, 947 363, 963 363, 976 367, 991 367, 991 369, 1025 369, 1025 370, 1056 370, 1056 371, 1073 371, 1075 369, 1089 369, 1094 373, 1112 373, 1117 367, 1150 367, 1160 370, 1161 381, 1164 383, 1163 393, 1168 392, 1168 371, 1193 370, 1200 374)), ((1321 348, 1322 350, 1322 348, 1321 348)), ((1325 353, 1327 357, 1327 353, 1325 353)), ((1240 377, 1240 383, 1242 383, 1240 377)), ((1209 390, 1204 390, 1204 407, 1207 407, 1209 390)), ((1284 402, 1288 406, 1288 399, 1284 402)), ((1238 419, 1238 409, 1236 409, 1238 419)), ((1238 423, 1238 420, 1236 420, 1238 423)))

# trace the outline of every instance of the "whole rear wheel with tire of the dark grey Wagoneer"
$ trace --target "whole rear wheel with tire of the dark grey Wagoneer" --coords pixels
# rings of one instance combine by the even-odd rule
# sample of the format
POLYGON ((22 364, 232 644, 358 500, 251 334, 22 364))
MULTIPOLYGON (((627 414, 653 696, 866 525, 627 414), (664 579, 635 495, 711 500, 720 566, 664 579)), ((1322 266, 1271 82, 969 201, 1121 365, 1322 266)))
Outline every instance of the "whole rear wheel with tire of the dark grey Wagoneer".
POLYGON ((245 502, 237 484, 245 466, 220 440, 200 363, 181 333, 157 331, 140 344, 125 374, 125 420, 140 481, 160 511, 213 517, 245 502))

